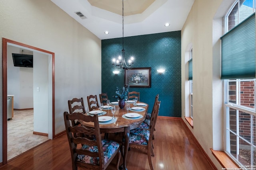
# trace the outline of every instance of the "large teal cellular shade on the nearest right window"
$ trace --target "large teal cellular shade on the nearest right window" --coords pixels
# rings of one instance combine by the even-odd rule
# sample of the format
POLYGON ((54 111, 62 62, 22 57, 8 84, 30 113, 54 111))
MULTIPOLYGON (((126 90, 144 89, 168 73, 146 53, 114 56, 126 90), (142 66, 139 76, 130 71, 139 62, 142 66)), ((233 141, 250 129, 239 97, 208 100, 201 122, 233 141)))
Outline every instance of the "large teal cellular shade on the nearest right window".
POLYGON ((220 39, 221 79, 255 78, 255 13, 220 39))

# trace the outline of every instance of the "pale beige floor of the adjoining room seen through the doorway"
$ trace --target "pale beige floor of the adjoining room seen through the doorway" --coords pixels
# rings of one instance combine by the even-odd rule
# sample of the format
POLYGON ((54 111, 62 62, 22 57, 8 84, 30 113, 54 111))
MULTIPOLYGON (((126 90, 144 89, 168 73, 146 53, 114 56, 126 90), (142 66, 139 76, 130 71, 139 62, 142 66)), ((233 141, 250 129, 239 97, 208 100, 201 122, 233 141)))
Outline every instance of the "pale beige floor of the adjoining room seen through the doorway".
POLYGON ((48 137, 33 135, 33 109, 14 110, 14 117, 7 121, 7 160, 48 140, 48 137))

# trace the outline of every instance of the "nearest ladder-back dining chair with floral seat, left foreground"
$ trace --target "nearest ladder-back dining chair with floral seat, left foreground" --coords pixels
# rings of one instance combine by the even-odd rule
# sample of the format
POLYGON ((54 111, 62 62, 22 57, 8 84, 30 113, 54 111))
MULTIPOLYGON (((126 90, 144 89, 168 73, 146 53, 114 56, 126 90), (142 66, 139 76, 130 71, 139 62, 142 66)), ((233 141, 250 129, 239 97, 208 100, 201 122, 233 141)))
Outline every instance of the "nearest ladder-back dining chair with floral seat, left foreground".
POLYGON ((101 139, 98 115, 88 116, 83 113, 69 114, 64 112, 64 121, 68 143, 72 158, 72 169, 77 170, 78 167, 83 169, 100 169, 105 170, 115 156, 117 157, 116 169, 118 170, 120 162, 120 145, 115 141, 101 139), (75 119, 84 122, 93 122, 94 128, 86 128, 84 126, 73 126, 70 121, 75 119), (84 133, 87 135, 95 135, 96 139, 88 140, 85 137, 74 137, 73 134, 84 133))

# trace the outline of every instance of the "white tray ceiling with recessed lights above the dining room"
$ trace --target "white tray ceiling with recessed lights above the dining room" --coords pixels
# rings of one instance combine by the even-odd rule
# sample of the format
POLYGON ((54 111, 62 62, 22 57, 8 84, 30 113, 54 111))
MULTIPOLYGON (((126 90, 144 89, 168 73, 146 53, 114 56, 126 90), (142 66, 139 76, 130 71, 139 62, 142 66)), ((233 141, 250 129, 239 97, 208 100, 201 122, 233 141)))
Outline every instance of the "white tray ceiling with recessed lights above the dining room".
MULTIPOLYGON (((98 38, 122 37, 122 0, 51 1, 98 38), (75 12, 81 12, 86 19, 75 12)), ((124 37, 179 31, 193 3, 194 0, 124 0, 124 37), (170 26, 165 27, 165 23, 170 26)))

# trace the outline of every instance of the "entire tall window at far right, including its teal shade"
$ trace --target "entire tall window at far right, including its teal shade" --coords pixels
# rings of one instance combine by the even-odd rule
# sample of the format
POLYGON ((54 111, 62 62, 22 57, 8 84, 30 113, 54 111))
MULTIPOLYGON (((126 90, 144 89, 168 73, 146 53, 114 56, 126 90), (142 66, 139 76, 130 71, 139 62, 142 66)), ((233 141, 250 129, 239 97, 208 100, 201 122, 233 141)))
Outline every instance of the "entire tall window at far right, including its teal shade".
POLYGON ((255 0, 236 0, 225 17, 227 33, 221 38, 222 79, 225 79, 225 152, 238 165, 245 167, 256 164, 254 12, 255 0), (248 24, 251 27, 246 30, 248 24), (246 44, 248 41, 243 37, 252 39, 246 44))

